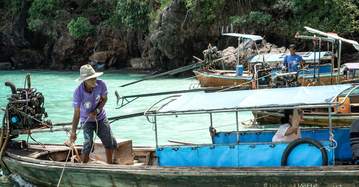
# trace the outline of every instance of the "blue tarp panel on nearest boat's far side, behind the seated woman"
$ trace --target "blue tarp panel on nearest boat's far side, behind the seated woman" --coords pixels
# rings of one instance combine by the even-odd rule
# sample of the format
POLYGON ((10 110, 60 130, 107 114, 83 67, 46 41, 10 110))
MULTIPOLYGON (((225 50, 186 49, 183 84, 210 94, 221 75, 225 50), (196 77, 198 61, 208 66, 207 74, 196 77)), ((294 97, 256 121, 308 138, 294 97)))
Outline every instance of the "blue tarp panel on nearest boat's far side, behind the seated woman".
MULTIPOLYGON (((271 142, 272 137, 276 131, 265 131, 265 132, 246 132, 239 133, 239 142, 250 143, 250 142, 271 142)), ((328 141, 329 130, 328 129, 317 129, 317 130, 301 130, 302 138, 312 138, 317 141, 328 141)), ((333 139, 337 145, 335 148, 335 159, 342 161, 351 160, 351 149, 350 149, 350 128, 333 129, 333 139)), ((213 137, 213 143, 236 143, 236 133, 219 133, 213 137)), ((335 145, 334 145, 335 146, 335 145)))

